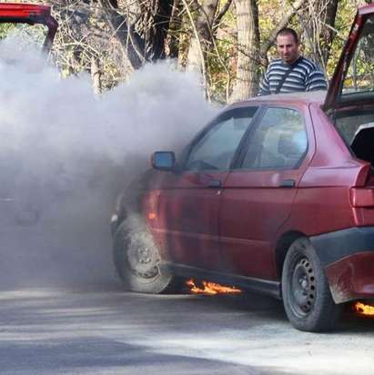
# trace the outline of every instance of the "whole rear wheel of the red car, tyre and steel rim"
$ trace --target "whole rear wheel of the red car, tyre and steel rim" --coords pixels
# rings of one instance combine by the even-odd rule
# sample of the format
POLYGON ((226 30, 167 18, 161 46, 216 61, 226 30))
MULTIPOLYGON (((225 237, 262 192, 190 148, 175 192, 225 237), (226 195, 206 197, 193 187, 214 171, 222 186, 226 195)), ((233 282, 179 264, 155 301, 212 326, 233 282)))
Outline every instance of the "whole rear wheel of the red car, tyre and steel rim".
POLYGON ((318 255, 305 237, 288 249, 282 298, 288 320, 300 331, 331 331, 339 319, 340 306, 332 300, 318 255))

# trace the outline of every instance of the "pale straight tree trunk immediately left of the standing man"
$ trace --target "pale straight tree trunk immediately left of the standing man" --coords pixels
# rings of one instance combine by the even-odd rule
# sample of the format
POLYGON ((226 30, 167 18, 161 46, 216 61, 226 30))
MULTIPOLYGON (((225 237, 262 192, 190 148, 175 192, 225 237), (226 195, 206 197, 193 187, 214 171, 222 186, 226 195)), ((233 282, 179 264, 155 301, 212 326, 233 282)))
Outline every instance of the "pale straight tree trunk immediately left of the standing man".
POLYGON ((259 30, 257 0, 236 0, 238 27, 237 80, 229 102, 245 100, 257 93, 259 30))

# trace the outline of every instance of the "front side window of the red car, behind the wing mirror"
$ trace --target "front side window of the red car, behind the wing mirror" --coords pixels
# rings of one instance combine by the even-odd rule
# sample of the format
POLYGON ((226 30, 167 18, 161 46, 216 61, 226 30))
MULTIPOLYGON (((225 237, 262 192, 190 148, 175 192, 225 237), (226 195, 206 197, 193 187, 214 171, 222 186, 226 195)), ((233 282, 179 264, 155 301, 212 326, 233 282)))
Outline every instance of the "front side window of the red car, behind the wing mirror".
POLYGON ((227 170, 257 107, 223 113, 197 140, 189 153, 187 170, 227 170))

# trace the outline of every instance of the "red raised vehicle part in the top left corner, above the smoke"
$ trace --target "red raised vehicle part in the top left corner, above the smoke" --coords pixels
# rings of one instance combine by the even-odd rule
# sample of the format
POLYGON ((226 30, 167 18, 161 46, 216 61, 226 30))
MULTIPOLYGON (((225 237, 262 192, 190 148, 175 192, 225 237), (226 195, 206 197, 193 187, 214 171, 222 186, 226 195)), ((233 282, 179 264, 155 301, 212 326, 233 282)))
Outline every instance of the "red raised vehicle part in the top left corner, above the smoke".
POLYGON ((57 30, 57 22, 51 15, 51 8, 47 5, 1 3, 0 23, 45 25, 47 27, 45 51, 48 51, 53 44, 57 30))

